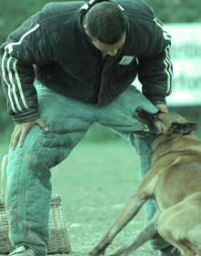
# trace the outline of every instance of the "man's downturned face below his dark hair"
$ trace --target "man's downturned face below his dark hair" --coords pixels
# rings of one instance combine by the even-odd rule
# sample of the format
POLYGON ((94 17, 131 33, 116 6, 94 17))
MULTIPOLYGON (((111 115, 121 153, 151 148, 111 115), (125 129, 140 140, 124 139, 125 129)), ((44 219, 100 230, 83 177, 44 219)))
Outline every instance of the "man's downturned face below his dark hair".
POLYGON ((122 46, 124 46, 124 44, 126 42, 126 33, 123 33, 120 40, 117 41, 113 45, 104 44, 104 43, 100 42, 97 38, 90 36, 86 27, 85 27, 85 33, 87 34, 87 36, 89 36, 91 38, 92 44, 95 46, 95 48, 98 49, 99 51, 101 51, 104 55, 116 56, 118 50, 122 46))

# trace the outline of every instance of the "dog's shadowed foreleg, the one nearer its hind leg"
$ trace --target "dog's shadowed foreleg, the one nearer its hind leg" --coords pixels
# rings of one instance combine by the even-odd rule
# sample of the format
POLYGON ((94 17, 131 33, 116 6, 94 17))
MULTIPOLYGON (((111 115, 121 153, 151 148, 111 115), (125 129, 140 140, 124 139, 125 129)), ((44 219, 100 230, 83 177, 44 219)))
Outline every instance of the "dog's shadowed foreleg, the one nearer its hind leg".
POLYGON ((128 247, 122 247, 118 249, 115 253, 110 256, 127 256, 130 255, 132 251, 136 251, 140 246, 142 246, 146 241, 149 241, 154 238, 157 234, 157 220, 159 216, 159 211, 156 212, 154 218, 151 222, 146 225, 144 230, 141 230, 140 233, 136 236, 135 241, 131 243, 128 247))

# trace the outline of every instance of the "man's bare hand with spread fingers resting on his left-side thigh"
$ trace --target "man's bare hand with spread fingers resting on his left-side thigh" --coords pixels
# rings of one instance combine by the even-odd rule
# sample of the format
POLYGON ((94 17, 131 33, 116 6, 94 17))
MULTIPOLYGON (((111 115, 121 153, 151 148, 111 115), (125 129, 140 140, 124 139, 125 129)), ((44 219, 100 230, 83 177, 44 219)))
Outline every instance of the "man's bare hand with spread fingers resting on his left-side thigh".
POLYGON ((22 147, 26 134, 28 133, 30 128, 32 128, 35 125, 39 126, 44 131, 48 131, 48 128, 46 127, 45 123, 40 118, 25 123, 15 122, 15 129, 11 135, 9 148, 14 150, 17 143, 19 147, 22 147))

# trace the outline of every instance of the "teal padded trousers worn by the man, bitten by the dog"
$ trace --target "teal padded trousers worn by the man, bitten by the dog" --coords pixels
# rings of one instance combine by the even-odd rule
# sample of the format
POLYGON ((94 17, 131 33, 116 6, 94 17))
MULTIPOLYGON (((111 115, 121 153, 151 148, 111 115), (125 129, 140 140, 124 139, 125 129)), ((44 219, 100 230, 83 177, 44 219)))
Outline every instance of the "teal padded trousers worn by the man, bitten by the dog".
MULTIPOLYGON (((146 138, 134 136, 135 131, 145 129, 145 124, 136 119, 136 108, 150 113, 156 113, 157 109, 135 87, 127 88, 106 107, 58 95, 38 83, 35 87, 39 115, 49 131, 35 126, 28 132, 22 148, 9 151, 5 207, 10 241, 16 247, 26 245, 45 256, 52 191, 50 169, 69 155, 96 122, 130 140, 139 153, 144 175, 150 165, 150 148, 146 138)), ((146 211, 147 218, 152 218, 154 205, 147 204, 146 211)), ((159 240, 158 246, 163 243, 159 240)))

